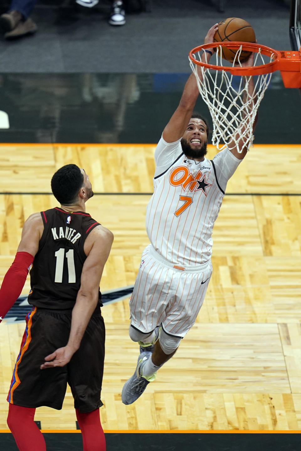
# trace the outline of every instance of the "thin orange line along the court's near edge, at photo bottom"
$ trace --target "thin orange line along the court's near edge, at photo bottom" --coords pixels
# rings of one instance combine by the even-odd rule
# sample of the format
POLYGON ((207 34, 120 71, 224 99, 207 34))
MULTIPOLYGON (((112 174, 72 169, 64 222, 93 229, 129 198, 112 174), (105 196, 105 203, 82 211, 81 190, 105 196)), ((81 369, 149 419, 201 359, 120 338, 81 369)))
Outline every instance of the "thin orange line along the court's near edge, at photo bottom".
MULTIPOLYGON (((73 434, 80 434, 81 431, 78 429, 41 429, 41 432, 43 434, 45 433, 55 433, 55 434, 63 434, 63 433, 73 433, 73 434)), ((11 433, 9 430, 0 430, 0 433, 11 433)), ((139 430, 104 430, 104 433, 106 434, 300 434, 301 431, 245 431, 245 430, 235 430, 235 431, 229 431, 229 430, 202 430, 202 431, 195 431, 195 430, 176 430, 176 431, 168 431, 168 430, 145 430, 145 431, 139 431, 139 430)))

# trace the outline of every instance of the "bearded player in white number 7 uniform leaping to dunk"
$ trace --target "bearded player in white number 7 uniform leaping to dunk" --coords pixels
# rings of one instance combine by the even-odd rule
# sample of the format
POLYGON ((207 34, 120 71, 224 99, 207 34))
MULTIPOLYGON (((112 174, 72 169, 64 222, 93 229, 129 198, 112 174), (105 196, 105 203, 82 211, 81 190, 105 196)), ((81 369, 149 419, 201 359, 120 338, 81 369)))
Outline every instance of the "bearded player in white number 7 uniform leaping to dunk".
MULTIPOLYGON (((205 44, 213 42, 217 25, 208 31, 205 44)), ((202 61, 208 62, 213 52, 206 50, 202 61)), ((242 65, 253 61, 250 55, 242 65)), ((130 299, 130 338, 138 341, 140 355, 122 390, 124 404, 139 398, 194 325, 212 274, 213 224, 227 181, 247 152, 241 139, 239 147, 228 143, 232 150, 222 150, 212 161, 205 157, 208 123, 193 113, 198 95, 191 74, 155 151, 154 193, 146 211, 151 244, 142 254, 130 299)))

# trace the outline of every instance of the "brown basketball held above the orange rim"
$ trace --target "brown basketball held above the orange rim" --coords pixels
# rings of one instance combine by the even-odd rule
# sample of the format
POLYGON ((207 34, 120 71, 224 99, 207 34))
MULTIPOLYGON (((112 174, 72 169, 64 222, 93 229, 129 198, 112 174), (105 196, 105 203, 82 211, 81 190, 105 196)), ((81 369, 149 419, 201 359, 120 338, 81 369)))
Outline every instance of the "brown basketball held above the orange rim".
MULTIPOLYGON (((218 30, 214 34, 214 42, 240 41, 256 42, 255 32, 250 23, 238 17, 230 17, 218 24, 218 30)), ((236 50, 222 47, 222 59, 233 62, 236 50)), ((241 51, 240 61, 245 61, 251 52, 241 51)))

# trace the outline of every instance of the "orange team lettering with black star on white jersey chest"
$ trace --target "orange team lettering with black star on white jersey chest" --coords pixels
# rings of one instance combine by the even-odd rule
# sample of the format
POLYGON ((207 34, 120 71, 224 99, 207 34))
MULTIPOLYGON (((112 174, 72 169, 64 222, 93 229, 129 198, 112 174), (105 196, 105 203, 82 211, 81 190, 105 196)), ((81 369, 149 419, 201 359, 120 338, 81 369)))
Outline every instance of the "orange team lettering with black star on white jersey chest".
POLYGON ((200 170, 194 177, 186 166, 177 166, 171 171, 169 183, 172 186, 181 185, 184 190, 188 188, 191 192, 201 191, 207 196, 207 190, 212 184, 208 183, 205 177, 200 170))

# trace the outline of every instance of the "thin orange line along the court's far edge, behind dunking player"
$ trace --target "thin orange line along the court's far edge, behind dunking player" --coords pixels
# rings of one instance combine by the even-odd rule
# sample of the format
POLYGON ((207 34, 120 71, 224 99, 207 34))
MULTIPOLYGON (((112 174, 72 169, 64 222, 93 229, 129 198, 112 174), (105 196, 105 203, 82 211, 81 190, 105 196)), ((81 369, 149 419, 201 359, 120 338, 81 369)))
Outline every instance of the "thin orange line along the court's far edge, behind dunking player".
MULTIPOLYGON (((110 146, 115 146, 115 147, 141 147, 141 146, 148 146, 148 147, 153 147, 153 146, 157 146, 157 143, 154 144, 129 144, 129 143, 125 143, 125 144, 121 144, 121 143, 0 143, 0 147, 1 146, 19 146, 19 147, 29 147, 29 146, 34 146, 34 147, 56 147, 56 146, 68 146, 68 147, 78 147, 78 146, 97 146, 97 147, 110 147, 110 146)), ((254 147, 267 147, 267 146, 273 146, 273 147, 301 147, 301 143, 300 144, 254 144, 254 147)), ((208 147, 216 147, 213 146, 213 144, 208 144, 208 147)))

